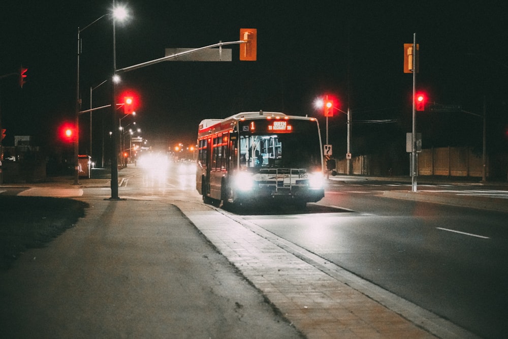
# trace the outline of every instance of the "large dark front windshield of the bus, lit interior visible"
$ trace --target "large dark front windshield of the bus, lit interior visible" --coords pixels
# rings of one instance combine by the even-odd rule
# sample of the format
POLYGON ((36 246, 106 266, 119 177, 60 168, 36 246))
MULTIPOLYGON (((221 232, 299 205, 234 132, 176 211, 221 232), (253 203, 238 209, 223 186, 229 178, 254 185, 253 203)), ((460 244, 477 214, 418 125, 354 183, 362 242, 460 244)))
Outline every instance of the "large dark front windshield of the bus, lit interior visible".
POLYGON ((292 126, 295 123, 299 128, 290 133, 241 133, 238 144, 240 166, 301 169, 321 167, 321 147, 315 122, 292 121, 292 126))

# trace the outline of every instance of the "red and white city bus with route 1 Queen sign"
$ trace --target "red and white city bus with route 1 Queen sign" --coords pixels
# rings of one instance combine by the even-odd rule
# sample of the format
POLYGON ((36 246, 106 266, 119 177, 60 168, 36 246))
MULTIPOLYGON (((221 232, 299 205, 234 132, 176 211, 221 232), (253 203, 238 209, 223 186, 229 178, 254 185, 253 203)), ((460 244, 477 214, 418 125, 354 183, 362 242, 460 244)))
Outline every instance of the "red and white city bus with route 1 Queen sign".
POLYGON ((243 112, 199 125, 196 189, 205 203, 292 204, 325 196, 317 119, 243 112))

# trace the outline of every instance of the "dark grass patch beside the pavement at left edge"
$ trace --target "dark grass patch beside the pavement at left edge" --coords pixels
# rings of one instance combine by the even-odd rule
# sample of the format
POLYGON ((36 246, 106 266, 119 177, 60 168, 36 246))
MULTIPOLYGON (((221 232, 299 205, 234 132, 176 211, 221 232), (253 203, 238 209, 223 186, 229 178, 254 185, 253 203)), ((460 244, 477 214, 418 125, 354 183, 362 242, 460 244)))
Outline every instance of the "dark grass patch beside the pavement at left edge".
POLYGON ((73 227, 87 206, 73 199, 0 196, 0 269, 73 227))

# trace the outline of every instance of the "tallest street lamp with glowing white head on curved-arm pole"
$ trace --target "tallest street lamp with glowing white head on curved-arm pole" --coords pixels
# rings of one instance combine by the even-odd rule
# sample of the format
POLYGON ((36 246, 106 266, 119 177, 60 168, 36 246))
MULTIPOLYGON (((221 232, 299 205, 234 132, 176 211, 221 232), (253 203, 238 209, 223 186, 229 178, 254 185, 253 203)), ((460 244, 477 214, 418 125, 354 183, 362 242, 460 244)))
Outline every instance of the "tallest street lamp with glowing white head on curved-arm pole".
MULTIPOLYGON (((114 0, 113 0, 113 11, 111 13, 104 14, 97 18, 96 20, 92 21, 88 25, 86 25, 83 28, 79 28, 78 26, 78 46, 77 46, 77 67, 76 67, 76 114, 75 114, 75 128, 76 128, 76 137, 74 140, 74 184, 79 184, 79 111, 81 108, 81 98, 79 95, 79 56, 81 54, 81 38, 80 34, 85 30, 86 28, 90 27, 97 21, 101 20, 102 18, 111 15, 113 18, 113 36, 114 36, 114 23, 115 19, 123 20, 126 17, 126 10, 123 7, 115 8, 114 0)), ((114 45, 114 37, 113 37, 113 45, 114 45)), ((91 113, 90 113, 91 114, 91 113)))

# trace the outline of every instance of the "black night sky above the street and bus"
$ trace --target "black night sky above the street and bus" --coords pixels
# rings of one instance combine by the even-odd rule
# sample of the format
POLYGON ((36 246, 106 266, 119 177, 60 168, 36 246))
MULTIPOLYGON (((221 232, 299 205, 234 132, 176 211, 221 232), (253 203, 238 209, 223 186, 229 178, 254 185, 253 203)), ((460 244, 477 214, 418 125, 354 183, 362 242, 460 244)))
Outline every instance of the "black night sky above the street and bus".
MULTIPOLYGON (((405 148, 411 131, 412 76, 403 73, 403 44, 420 44, 417 89, 430 102, 482 113, 484 98, 490 149, 506 149, 508 126, 508 3, 503 1, 141 1, 116 26, 117 68, 163 57, 165 48, 202 47, 236 41, 239 29, 258 29, 258 60, 196 63, 167 61, 122 75, 122 90, 140 102, 142 136, 162 144, 193 143, 203 118, 241 111, 282 111, 319 116, 315 98, 325 93, 353 112, 355 154, 394 142, 405 148), (373 120, 389 119, 389 124, 373 120)), ((111 1, 4 1, 0 5, 0 75, 28 68, 19 88, 15 76, 0 80, 2 125, 14 135, 55 143, 76 100, 77 29, 108 13, 111 1)), ((112 73, 112 24, 103 18, 81 33, 82 109, 89 88, 112 73)), ((111 102, 110 86, 93 91, 93 106, 111 102)), ((93 113, 98 140, 102 116, 93 113)), ((133 121, 131 117, 123 124, 133 121)), ((345 146, 345 115, 330 118, 330 140, 345 146)), ((89 114, 80 118, 80 152, 86 151, 89 114), (81 136, 83 135, 83 136, 81 136)), ((481 119, 464 113, 419 112, 424 147, 481 145, 481 119)), ((106 129, 109 129, 106 126, 106 129)), ((336 146, 335 146, 336 145, 336 146)), ((98 147, 98 146, 93 146, 98 147)), ((97 152, 97 151, 94 151, 97 152)))

